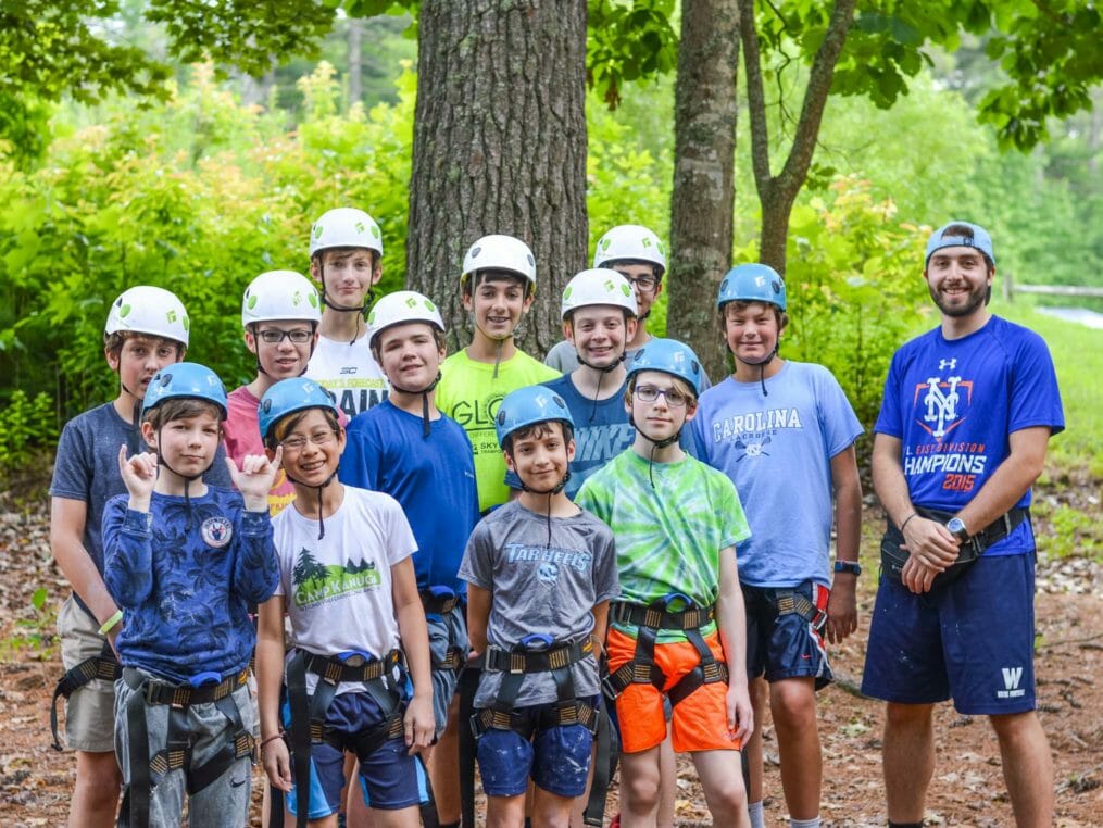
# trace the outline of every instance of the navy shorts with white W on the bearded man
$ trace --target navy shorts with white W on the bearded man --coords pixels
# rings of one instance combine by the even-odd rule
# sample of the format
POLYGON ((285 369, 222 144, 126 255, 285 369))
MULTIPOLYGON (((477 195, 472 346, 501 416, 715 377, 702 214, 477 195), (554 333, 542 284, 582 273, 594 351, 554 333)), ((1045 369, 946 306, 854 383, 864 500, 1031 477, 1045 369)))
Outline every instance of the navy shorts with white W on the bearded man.
POLYGON ((902 705, 953 698, 967 716, 1035 708, 1035 556, 982 556, 924 595, 881 578, 861 691, 902 705))

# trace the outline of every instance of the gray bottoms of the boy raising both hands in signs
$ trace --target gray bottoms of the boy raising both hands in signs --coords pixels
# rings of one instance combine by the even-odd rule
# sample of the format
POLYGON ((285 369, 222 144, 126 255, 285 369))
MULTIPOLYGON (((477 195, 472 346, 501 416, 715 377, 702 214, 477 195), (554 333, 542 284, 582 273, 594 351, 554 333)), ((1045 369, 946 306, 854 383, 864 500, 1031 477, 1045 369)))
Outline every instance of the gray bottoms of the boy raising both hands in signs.
MULTIPOLYGON (((127 731, 127 701, 135 695, 126 681, 115 682, 115 755, 122 770, 122 784, 130 784, 130 739, 127 731)), ((257 711, 253 693, 243 685, 233 693, 242 717, 242 724, 251 732, 256 727, 257 711)), ((162 750, 169 735, 168 705, 144 705, 146 727, 149 731, 150 756, 162 750)), ((188 708, 188 732, 192 739, 192 766, 197 767, 216 754, 227 743, 234 742, 229 719, 214 703, 192 705, 188 708)), ((189 797, 190 824, 204 828, 244 828, 249 816, 249 781, 253 765, 249 756, 236 760, 226 772, 205 788, 189 797)), ((184 811, 188 777, 184 768, 170 771, 163 777, 153 777, 149 797, 150 828, 176 828, 184 811)))

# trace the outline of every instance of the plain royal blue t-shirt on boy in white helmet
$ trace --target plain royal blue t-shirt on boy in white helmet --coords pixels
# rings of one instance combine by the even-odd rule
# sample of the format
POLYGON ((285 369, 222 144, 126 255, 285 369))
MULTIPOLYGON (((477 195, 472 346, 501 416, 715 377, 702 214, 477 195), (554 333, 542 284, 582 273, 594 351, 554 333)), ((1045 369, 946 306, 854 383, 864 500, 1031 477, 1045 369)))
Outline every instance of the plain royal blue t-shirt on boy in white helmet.
POLYGON ((389 399, 353 418, 341 456, 342 483, 394 497, 414 529, 418 589, 448 587, 467 594, 457 573, 479 523, 471 440, 446 415, 429 423, 389 399))

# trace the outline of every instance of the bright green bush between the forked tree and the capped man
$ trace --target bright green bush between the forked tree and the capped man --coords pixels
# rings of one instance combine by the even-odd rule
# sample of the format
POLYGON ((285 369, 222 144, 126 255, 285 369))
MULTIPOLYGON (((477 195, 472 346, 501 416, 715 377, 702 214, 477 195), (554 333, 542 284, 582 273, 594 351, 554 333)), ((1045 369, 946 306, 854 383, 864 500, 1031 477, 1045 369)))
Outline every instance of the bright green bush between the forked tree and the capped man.
MULTIPOLYGON (((782 340, 783 356, 831 369, 866 427, 877 418, 892 353, 929 311, 915 265, 929 229, 896 221, 892 202, 870 189, 842 178, 793 209, 782 340)), ((754 261, 753 248, 735 260, 754 261)))

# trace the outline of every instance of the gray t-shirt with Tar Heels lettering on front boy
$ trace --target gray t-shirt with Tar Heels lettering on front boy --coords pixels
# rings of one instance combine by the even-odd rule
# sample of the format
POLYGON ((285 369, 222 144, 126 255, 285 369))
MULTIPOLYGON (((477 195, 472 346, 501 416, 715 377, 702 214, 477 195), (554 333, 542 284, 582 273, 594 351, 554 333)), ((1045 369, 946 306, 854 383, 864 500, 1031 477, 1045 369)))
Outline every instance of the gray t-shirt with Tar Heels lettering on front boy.
MULTIPOLYGON (((617 550, 609 527, 589 512, 547 518, 511 501, 488 515, 471 534, 460 578, 491 592, 488 638, 513 648, 524 636, 556 643, 585 641, 593 630, 593 605, 620 594, 617 550)), ((598 693, 598 666, 587 658, 571 666, 577 696, 598 693)), ((486 670, 475 707, 493 703, 502 674, 486 670)), ((550 673, 526 675, 517 707, 556 700, 550 673)))

